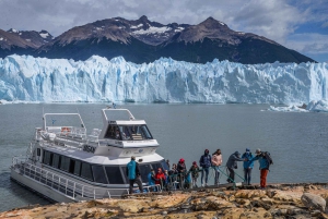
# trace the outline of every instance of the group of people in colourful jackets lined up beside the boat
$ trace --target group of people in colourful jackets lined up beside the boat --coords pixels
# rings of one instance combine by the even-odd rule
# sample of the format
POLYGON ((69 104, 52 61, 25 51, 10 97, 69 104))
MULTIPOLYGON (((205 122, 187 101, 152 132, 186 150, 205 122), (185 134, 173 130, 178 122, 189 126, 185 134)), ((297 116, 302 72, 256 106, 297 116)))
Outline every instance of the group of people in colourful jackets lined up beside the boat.
MULTIPOLYGON (((248 148, 246 148, 246 151, 242 156, 238 151, 232 154, 226 161, 226 169, 229 171, 227 182, 235 182, 235 169, 238 168, 237 162, 243 161, 245 183, 250 185, 251 170, 255 160, 259 160, 260 187, 265 188, 267 185, 269 166, 272 160, 268 156, 268 153, 262 153, 260 149, 256 149, 255 156, 248 148)), ((154 169, 151 169, 148 174, 148 183, 152 187, 152 191, 156 191, 157 188, 169 190, 169 186, 175 186, 175 188, 197 187, 199 172, 201 173, 201 186, 207 186, 210 168, 214 170, 214 184, 220 184, 220 172, 222 172, 222 169, 220 169, 222 166, 221 149, 216 149, 212 156, 210 155, 209 149, 206 149, 204 154, 199 159, 200 167, 197 165, 197 161, 194 161, 188 170, 184 158, 180 158, 177 165, 173 163, 172 169, 169 168, 168 160, 166 160, 166 163, 168 166, 167 170, 159 167, 156 172, 154 169)), ((127 175, 130 181, 130 194, 132 193, 134 183, 138 184, 139 190, 142 193, 143 187, 140 169, 138 162, 136 162, 136 157, 133 156, 131 157, 131 161, 127 165, 127 175)))

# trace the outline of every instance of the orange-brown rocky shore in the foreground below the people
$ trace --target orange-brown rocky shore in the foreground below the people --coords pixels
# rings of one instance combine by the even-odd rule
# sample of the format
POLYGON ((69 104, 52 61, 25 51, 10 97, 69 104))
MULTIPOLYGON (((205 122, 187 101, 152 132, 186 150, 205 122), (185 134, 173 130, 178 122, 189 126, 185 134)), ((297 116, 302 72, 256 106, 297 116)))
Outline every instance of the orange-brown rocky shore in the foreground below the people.
POLYGON ((328 184, 272 184, 163 192, 81 203, 28 206, 0 218, 328 218, 328 184))

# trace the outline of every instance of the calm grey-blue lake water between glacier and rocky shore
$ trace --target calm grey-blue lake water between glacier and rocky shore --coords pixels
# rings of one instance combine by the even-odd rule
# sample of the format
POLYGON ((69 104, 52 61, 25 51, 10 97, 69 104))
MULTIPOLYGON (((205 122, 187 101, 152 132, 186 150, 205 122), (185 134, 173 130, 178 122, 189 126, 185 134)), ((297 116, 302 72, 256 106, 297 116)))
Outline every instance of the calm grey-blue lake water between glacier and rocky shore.
MULTIPOLYGON (((144 119, 171 163, 185 158, 187 167, 203 150, 221 148, 223 162, 248 147, 271 153, 269 182, 327 182, 328 113, 270 112, 267 105, 122 105, 144 119)), ((0 106, 0 211, 48 202, 10 180, 11 158, 24 155, 45 112, 79 112, 86 129, 102 129, 105 105, 0 106)), ((242 163, 237 172, 243 175, 242 163)), ((210 175, 210 181, 213 177, 210 175)), ((258 163, 253 182, 259 182, 258 163)))

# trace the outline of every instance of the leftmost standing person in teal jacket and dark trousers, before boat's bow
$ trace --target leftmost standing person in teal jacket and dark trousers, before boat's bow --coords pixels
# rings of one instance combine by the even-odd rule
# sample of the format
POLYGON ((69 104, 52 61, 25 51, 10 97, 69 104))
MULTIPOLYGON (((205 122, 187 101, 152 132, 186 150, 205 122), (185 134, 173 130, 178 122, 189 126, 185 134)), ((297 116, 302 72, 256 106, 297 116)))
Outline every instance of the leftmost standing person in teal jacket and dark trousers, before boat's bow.
POLYGON ((133 184, 137 183, 140 190, 140 193, 143 193, 140 169, 138 162, 136 162, 136 157, 131 157, 131 161, 127 165, 127 175, 130 181, 129 193, 133 193, 133 184))

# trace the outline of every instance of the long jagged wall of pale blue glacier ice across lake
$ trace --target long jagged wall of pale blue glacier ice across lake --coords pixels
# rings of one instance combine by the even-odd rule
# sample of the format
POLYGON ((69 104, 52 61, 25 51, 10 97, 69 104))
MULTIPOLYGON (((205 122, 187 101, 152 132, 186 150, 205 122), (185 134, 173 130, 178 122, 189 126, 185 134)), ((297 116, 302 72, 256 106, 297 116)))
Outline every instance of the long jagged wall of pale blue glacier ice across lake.
POLYGON ((327 100, 327 63, 206 64, 122 57, 85 61, 9 56, 0 59, 0 100, 27 102, 247 102, 327 100))

